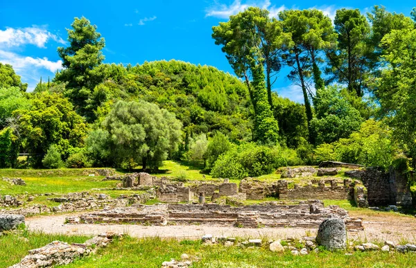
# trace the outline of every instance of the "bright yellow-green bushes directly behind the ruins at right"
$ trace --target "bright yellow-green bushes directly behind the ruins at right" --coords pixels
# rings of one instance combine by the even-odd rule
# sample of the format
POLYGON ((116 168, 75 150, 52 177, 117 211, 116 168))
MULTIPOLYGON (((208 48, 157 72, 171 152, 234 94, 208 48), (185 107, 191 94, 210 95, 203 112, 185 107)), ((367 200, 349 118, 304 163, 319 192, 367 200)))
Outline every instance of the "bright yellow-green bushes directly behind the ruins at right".
POLYGON ((370 119, 347 139, 319 145, 315 155, 318 162, 336 160, 388 168, 398 151, 388 127, 370 119))

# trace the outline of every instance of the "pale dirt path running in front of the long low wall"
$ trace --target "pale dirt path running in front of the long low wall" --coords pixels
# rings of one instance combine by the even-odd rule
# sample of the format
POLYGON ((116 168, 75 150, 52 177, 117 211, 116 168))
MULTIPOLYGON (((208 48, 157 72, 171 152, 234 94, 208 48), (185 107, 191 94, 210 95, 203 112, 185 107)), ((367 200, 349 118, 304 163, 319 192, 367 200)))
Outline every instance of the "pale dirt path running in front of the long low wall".
MULTIPOLYGON (((411 217, 385 215, 358 215, 350 213, 352 217, 363 217, 364 231, 348 232, 350 240, 380 241, 402 240, 416 242, 416 219, 411 217)), ((71 214, 73 215, 73 214, 71 214)), ((30 231, 44 233, 64 233, 68 235, 83 234, 97 235, 105 231, 126 233, 136 238, 159 236, 161 238, 198 239, 210 233, 214 236, 247 238, 300 238, 305 235, 315 235, 318 229, 303 228, 261 228, 248 229, 229 226, 211 225, 175 225, 175 226, 142 226, 142 225, 104 225, 104 224, 63 224, 66 215, 47 215, 26 218, 26 225, 30 231)))

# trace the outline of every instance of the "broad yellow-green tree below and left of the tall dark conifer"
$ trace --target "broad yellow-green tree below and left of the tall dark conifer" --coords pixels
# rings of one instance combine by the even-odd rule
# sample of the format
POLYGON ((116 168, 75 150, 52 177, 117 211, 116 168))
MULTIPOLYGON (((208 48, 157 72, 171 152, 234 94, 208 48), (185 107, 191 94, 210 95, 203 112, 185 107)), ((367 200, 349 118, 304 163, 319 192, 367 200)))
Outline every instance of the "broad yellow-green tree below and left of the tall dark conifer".
POLYGON ((55 144, 64 159, 69 150, 83 146, 84 119, 61 94, 43 92, 35 95, 29 109, 14 111, 24 148, 31 154, 31 164, 38 168, 46 150, 55 144))

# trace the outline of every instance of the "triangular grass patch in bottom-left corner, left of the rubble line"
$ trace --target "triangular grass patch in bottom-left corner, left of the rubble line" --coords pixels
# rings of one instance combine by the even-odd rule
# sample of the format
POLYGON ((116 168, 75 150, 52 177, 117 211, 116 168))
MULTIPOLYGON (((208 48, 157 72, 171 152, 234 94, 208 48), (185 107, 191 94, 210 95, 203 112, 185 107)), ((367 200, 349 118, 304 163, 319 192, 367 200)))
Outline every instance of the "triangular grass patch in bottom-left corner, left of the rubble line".
POLYGON ((46 235, 44 233, 10 233, 0 236, 0 268, 9 267, 28 254, 28 250, 37 249, 52 241, 83 243, 87 236, 46 235))

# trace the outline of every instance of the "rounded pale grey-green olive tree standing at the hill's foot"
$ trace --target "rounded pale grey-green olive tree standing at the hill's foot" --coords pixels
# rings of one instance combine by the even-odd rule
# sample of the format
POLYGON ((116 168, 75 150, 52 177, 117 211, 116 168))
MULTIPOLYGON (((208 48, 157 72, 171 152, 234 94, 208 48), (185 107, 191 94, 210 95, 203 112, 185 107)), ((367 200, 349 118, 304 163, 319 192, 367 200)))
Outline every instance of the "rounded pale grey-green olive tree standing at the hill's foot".
POLYGON ((174 114, 157 105, 139 101, 119 101, 102 123, 109 133, 111 156, 116 163, 134 161, 157 168, 175 152, 182 124, 174 114))

